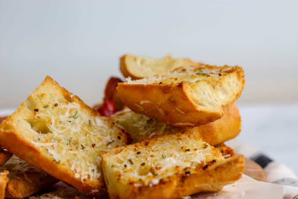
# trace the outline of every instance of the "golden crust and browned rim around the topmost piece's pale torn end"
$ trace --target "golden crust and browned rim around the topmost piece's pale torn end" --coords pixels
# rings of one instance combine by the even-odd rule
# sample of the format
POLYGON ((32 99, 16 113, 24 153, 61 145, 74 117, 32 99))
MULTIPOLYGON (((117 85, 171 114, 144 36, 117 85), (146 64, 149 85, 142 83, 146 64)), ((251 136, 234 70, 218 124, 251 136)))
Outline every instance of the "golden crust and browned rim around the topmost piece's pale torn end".
MULTIPOLYGON (((239 89, 236 95, 223 101, 219 107, 202 108, 193 100, 193 88, 206 87, 206 81, 173 84, 129 84, 119 83, 118 94, 123 103, 134 112, 144 114, 150 118, 158 118, 167 124, 175 126, 200 126, 213 122, 223 116, 222 107, 233 103, 241 95, 244 87, 244 72, 241 67, 233 67, 227 73, 229 77, 216 81, 219 90, 226 85, 229 78, 237 78, 239 89)), ((169 80, 171 81, 171 79, 169 80)), ((207 82, 207 87, 213 87, 207 82)), ((209 99, 205 99, 208 101, 209 99)))

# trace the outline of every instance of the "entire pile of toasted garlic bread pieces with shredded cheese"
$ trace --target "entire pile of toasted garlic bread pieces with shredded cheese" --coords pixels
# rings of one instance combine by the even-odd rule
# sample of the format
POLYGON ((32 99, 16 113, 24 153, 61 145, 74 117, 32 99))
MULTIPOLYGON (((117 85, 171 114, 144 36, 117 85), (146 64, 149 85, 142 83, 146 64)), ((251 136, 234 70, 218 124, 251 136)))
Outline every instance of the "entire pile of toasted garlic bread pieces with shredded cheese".
POLYGON ((223 144, 241 131, 241 67, 124 55, 120 70, 127 81, 109 81, 105 100, 123 109, 109 118, 47 76, 0 124, 0 199, 57 181, 94 198, 171 199, 241 178, 243 155, 223 144))

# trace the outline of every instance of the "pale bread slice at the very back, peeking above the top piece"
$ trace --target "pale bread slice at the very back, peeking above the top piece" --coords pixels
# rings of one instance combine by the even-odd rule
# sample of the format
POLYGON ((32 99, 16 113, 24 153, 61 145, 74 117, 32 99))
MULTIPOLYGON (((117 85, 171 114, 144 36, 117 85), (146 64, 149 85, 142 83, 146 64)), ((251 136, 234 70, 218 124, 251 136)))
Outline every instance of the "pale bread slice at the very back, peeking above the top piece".
POLYGON ((201 66, 203 63, 186 58, 173 59, 171 56, 164 58, 140 57, 135 55, 123 55, 120 58, 120 70, 124 77, 142 79, 153 75, 164 75, 181 66, 201 66))

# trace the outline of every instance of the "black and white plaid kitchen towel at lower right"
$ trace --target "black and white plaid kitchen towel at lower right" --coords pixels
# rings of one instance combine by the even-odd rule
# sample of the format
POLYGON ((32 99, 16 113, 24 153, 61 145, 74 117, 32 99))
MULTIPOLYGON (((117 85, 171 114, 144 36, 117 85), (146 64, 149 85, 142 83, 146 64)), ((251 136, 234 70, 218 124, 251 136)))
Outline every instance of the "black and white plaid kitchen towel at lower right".
POLYGON ((236 153, 258 163, 266 172, 267 181, 283 186, 283 199, 298 199, 298 178, 295 173, 286 165, 280 164, 254 147, 240 143, 236 140, 229 141, 228 146, 232 147, 236 153))

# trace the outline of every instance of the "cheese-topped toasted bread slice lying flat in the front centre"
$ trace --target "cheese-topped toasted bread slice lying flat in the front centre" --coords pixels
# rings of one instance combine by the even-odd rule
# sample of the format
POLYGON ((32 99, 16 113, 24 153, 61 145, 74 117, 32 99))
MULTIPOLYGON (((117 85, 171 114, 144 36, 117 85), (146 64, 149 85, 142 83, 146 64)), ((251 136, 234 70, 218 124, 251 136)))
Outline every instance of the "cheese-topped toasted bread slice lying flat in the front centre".
POLYGON ((237 181, 244 158, 225 159, 201 140, 166 135, 111 150, 102 169, 111 199, 181 198, 237 181))

